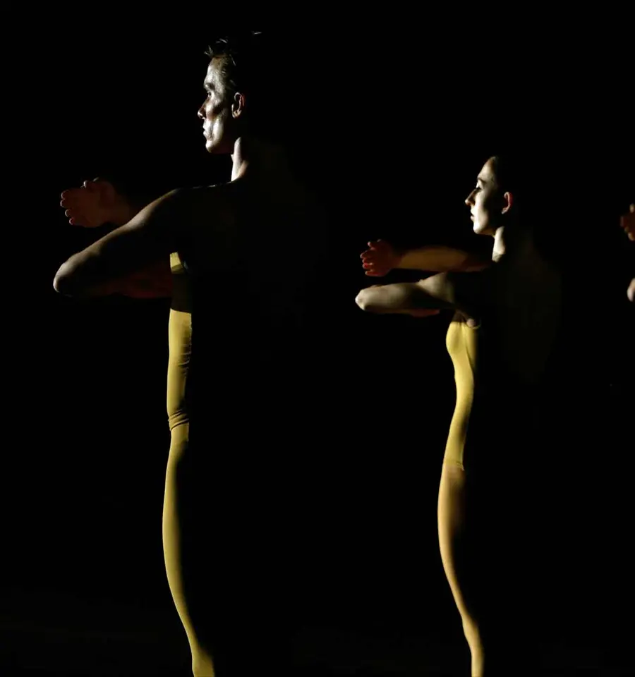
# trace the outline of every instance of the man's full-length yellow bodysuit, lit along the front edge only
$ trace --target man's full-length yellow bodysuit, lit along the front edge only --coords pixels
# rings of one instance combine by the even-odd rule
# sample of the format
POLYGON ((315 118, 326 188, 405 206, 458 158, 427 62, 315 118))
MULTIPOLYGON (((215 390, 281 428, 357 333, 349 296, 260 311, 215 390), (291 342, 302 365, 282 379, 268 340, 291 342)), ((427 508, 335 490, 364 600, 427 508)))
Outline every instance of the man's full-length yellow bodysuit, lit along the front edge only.
POLYGON ((328 351, 306 317, 322 264, 297 252, 323 216, 286 184, 258 190, 214 188, 222 216, 201 214, 171 255, 163 545, 195 677, 278 671, 303 599, 290 581, 313 547, 287 476, 322 427, 310 397, 328 351))

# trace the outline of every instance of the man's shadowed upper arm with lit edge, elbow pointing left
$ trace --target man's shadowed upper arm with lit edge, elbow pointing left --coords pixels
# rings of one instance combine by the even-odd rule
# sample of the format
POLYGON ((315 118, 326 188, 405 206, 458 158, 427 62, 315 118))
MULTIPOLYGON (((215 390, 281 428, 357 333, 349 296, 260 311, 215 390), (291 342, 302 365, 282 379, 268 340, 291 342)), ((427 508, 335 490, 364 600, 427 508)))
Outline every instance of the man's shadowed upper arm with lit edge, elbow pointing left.
POLYGON ((195 199, 193 190, 159 197, 127 224, 68 259, 54 287, 60 293, 82 293, 169 256, 190 229, 195 199))

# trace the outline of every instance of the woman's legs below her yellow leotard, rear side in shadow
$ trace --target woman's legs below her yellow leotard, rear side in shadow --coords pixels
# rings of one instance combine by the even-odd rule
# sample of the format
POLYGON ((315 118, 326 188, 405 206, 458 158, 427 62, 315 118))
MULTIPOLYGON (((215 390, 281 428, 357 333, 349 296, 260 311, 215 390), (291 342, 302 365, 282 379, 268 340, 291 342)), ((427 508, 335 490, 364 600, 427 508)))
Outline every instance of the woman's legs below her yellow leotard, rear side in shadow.
POLYGON ((470 487, 464 470, 444 464, 438 501, 444 571, 472 656, 473 677, 538 674, 536 597, 528 520, 504 489, 470 487), (480 494, 480 495, 479 495, 480 494))

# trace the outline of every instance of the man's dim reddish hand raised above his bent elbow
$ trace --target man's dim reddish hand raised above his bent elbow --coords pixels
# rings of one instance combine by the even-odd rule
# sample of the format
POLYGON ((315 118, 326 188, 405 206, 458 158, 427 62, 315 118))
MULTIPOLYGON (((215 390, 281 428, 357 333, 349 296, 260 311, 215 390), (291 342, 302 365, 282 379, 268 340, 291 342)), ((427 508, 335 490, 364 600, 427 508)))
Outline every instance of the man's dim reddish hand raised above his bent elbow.
POLYGON ((134 210, 109 181, 96 178, 84 181, 81 188, 70 188, 61 194, 61 207, 71 226, 99 228, 111 223, 123 226, 134 216, 134 210))

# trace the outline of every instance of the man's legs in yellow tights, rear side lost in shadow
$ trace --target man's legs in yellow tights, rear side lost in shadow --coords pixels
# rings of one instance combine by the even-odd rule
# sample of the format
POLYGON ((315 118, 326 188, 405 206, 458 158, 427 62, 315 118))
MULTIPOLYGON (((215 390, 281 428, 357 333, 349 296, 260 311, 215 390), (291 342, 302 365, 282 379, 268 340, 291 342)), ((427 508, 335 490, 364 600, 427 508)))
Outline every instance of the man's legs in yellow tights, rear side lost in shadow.
MULTIPOLYGON (((196 455, 188 425, 172 430, 163 514, 164 557, 195 677, 286 676, 282 508, 248 446, 196 455), (224 455, 223 452, 224 451, 224 455)), ((200 450, 199 450, 200 451, 200 450)), ((262 455, 261 455, 262 456, 262 455)))

